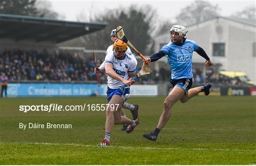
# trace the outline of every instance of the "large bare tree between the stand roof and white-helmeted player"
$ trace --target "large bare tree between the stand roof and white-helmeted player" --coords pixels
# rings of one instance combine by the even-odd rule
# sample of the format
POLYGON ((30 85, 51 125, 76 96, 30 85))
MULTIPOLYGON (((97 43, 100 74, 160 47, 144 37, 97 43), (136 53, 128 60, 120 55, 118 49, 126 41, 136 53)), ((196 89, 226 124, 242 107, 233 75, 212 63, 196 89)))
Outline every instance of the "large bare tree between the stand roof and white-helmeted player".
POLYGON ((97 15, 84 17, 80 14, 79 21, 84 19, 90 22, 106 22, 109 25, 95 33, 83 36, 87 49, 105 50, 111 44, 110 32, 117 26, 122 26, 128 39, 143 53, 147 53, 147 45, 152 42, 151 33, 154 31, 155 10, 151 6, 136 7, 131 5, 128 9, 119 7, 99 12, 97 15))

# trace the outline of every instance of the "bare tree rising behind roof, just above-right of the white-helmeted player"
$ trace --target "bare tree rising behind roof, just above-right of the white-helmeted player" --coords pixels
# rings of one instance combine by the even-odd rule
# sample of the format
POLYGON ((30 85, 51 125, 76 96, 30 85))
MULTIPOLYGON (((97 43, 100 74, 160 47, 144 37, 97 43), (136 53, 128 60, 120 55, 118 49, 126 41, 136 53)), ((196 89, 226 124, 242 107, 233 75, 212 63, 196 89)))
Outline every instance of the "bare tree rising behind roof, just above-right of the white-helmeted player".
POLYGON ((194 1, 181 9, 175 18, 178 24, 187 26, 219 16, 219 10, 218 5, 214 6, 208 1, 194 1))

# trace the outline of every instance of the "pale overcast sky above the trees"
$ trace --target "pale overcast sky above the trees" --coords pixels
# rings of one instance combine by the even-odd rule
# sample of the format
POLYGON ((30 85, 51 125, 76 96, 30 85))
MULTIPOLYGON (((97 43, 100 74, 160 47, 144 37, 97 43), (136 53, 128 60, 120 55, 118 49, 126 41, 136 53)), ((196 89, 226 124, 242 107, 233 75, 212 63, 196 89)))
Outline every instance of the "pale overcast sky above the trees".
MULTIPOLYGON (((89 15, 90 12, 101 13, 106 9, 116 9, 119 6, 137 4, 151 5, 156 9, 158 16, 175 21, 174 17, 180 10, 193 2, 193 0, 48 0, 52 9, 64 16, 64 20, 77 21, 81 12, 89 15)), ((209 0, 211 4, 218 4, 221 16, 230 16, 248 6, 256 6, 255 0, 209 0)))

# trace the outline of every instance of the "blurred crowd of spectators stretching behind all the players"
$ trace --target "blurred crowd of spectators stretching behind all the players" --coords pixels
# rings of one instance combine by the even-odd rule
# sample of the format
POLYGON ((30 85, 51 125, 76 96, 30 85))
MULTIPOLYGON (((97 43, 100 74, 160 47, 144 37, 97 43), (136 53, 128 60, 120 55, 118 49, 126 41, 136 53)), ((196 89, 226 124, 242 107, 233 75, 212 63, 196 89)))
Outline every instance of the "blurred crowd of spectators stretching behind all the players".
MULTIPOLYGON (((0 52, 0 72, 4 72, 9 80, 37 80, 59 82, 90 82, 96 80, 94 61, 84 58, 79 53, 71 52, 37 52, 36 50, 5 50, 0 52)), ((97 61, 97 66, 104 59, 97 61)), ((137 69, 138 72, 140 69, 137 69)), ((101 83, 107 82, 105 72, 100 72, 101 83)), ((164 67, 152 70, 150 75, 138 79, 137 83, 157 84, 169 80, 170 69, 164 67)), ((200 69, 193 69, 193 81, 196 83, 224 83, 239 85, 238 79, 231 79, 207 68, 204 74, 200 69)))

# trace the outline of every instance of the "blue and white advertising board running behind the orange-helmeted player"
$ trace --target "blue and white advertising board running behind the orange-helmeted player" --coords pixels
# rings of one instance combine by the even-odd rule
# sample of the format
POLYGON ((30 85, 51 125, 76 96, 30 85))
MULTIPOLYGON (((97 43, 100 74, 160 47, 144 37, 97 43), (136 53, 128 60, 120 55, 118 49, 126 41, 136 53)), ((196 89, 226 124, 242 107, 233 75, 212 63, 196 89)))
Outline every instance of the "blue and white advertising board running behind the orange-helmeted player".
MULTIPOLYGON (((157 96, 157 85, 132 85, 132 96, 157 96)), ((9 83, 8 97, 106 96, 107 84, 9 83)))

